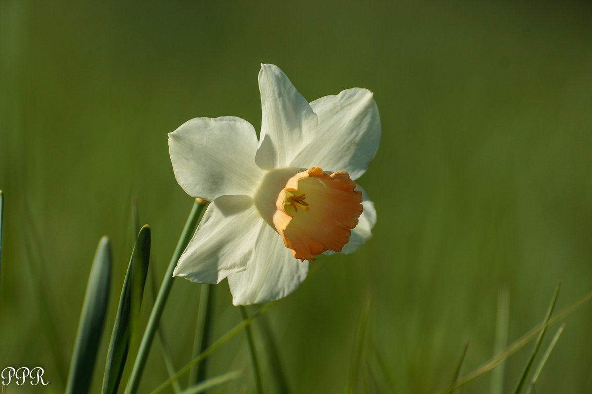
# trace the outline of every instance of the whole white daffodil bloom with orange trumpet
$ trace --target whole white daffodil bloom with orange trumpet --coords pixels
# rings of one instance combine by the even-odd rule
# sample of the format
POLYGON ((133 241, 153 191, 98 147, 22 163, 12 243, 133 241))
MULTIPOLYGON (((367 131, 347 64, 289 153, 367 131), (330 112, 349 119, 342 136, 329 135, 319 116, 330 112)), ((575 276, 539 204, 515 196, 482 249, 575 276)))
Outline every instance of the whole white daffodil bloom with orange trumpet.
POLYGON ((374 204, 353 182, 378 149, 372 92, 347 89, 309 104, 274 65, 261 66, 259 90, 259 141, 237 117, 195 118, 169 133, 177 182, 212 201, 174 275, 228 277, 234 305, 287 296, 308 260, 355 251, 376 222, 374 204))

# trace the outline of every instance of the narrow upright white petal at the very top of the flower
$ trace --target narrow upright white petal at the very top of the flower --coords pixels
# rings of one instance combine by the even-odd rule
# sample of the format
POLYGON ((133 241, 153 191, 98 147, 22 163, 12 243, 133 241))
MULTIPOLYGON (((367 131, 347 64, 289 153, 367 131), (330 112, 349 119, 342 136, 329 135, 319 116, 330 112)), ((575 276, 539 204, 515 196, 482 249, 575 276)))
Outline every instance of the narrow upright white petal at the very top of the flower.
POLYGON ((287 167, 316 134, 317 116, 278 66, 261 65, 261 135, 255 161, 263 169, 287 167))

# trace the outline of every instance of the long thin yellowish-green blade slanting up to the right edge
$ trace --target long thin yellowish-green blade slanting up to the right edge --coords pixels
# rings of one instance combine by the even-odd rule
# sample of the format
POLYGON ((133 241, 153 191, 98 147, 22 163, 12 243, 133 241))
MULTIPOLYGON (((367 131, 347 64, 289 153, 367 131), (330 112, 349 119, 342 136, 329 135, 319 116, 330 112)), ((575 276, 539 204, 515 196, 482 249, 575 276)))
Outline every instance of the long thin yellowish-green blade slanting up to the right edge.
POLYGON ((456 390, 459 387, 466 385, 466 383, 472 382, 473 380, 477 379, 482 374, 491 371, 502 361, 506 360, 506 358, 510 357, 510 355, 516 353, 516 351, 520 350, 524 345, 532 341, 532 339, 535 339, 535 337, 543 328, 554 325, 556 322, 565 318, 565 316, 569 316, 572 312, 574 312, 574 310, 578 309, 580 306, 584 305, 590 300, 592 300, 592 292, 585 294, 580 299, 577 299, 573 303, 571 303, 571 305, 568 305, 564 307, 564 309, 561 309, 559 312, 555 313, 555 316, 549 319, 549 321, 546 324, 542 322, 530 329, 530 331, 526 332, 526 334, 522 335, 522 337, 512 342, 512 344, 509 347, 505 348, 501 353, 496 354, 494 357, 490 358, 490 360, 488 361, 485 361, 485 363, 481 364, 481 366, 477 367, 477 369, 473 370, 471 373, 468 373, 465 376, 458 379, 454 383, 454 386, 442 390, 440 394, 450 393, 452 392, 452 390, 456 390))

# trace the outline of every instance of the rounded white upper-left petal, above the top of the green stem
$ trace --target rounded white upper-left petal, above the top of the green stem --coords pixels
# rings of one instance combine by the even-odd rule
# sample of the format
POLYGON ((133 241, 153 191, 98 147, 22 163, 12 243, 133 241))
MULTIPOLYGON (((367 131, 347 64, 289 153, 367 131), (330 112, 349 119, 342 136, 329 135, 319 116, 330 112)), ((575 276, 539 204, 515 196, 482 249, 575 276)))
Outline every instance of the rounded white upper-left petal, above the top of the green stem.
POLYGON ((169 133, 175 178, 189 196, 212 201, 252 194, 263 172, 255 164, 257 136, 241 118, 195 118, 169 133))

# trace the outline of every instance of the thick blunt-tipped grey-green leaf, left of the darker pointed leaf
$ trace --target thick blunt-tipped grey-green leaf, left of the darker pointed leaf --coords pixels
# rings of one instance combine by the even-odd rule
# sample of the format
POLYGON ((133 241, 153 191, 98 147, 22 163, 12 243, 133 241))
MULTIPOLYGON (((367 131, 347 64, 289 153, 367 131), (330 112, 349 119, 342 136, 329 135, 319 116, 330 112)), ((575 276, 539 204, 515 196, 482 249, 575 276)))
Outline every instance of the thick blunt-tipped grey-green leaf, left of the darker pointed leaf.
POLYGON ((88 392, 107 314, 110 277, 111 245, 109 239, 104 236, 96 248, 95 260, 86 285, 66 394, 88 392))

